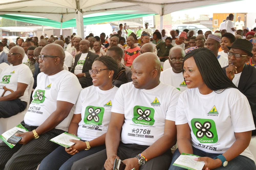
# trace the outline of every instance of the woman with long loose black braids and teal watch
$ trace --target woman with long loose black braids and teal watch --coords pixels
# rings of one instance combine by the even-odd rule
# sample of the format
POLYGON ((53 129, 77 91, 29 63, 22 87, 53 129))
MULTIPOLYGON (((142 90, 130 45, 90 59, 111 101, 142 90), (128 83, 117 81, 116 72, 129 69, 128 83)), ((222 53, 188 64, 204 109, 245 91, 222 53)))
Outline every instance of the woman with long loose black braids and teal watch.
POLYGON ((195 160, 205 162, 203 169, 256 169, 248 149, 255 129, 249 102, 214 53, 192 50, 184 58, 183 76, 189 89, 176 106, 178 149, 169 170, 183 169, 173 165, 181 153, 200 156, 195 160))

